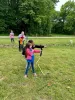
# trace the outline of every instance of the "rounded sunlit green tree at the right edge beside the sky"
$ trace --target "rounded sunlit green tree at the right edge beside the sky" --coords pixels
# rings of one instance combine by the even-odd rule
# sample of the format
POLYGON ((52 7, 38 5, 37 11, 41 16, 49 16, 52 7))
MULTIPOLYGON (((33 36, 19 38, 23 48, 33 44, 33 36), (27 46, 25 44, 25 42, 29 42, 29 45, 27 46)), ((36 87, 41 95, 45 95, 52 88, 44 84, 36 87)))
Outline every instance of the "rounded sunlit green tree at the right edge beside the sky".
POLYGON ((75 33, 75 2, 68 1, 60 11, 61 20, 63 22, 63 30, 68 34, 75 33))

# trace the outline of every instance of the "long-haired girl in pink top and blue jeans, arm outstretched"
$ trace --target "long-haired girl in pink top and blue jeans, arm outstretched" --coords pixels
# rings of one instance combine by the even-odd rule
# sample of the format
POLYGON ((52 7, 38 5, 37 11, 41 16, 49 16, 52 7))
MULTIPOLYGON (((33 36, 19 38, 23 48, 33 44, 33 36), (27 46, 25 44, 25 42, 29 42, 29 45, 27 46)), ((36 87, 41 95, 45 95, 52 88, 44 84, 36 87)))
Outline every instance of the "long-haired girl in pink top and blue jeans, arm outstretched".
POLYGON ((30 68, 30 64, 32 67, 32 72, 34 76, 37 76, 34 70, 34 53, 40 53, 41 50, 34 50, 32 49, 32 44, 31 43, 27 43, 25 46, 25 58, 27 60, 27 67, 26 67, 26 71, 25 71, 25 78, 28 76, 28 71, 30 68))

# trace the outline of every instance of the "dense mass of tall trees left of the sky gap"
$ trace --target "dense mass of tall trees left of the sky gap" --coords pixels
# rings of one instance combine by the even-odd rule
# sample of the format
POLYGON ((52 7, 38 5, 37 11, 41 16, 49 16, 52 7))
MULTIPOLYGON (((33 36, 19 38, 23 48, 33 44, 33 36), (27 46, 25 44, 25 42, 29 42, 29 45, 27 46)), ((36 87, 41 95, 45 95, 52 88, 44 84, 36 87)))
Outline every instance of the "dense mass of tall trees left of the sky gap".
POLYGON ((0 31, 49 35, 58 0, 0 0, 0 31))

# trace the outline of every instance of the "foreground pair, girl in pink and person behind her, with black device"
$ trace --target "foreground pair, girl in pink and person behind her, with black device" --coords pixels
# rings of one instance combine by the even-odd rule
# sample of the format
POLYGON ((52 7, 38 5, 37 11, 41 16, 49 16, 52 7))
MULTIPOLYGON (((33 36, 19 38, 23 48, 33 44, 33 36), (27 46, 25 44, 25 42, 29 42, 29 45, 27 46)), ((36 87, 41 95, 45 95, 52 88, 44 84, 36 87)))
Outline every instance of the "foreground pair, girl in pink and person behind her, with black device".
POLYGON ((32 72, 34 76, 37 76, 35 69, 34 69, 34 53, 41 53, 42 49, 36 50, 35 48, 44 48, 45 46, 43 45, 35 45, 33 40, 29 40, 25 47, 23 48, 22 54, 25 56, 26 61, 27 61, 27 66, 25 70, 25 75, 24 77, 28 77, 28 71, 30 68, 30 65, 32 67, 32 72))

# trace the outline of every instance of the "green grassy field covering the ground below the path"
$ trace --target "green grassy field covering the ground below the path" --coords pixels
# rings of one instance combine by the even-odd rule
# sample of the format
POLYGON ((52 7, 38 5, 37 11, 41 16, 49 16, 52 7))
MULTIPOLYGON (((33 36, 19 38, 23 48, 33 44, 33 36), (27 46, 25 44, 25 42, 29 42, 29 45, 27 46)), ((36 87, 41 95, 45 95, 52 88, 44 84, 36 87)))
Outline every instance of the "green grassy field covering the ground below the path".
POLYGON ((25 79, 18 39, 11 44, 9 38, 0 38, 0 100, 75 100, 75 38, 33 40, 47 47, 41 57, 35 54, 38 76, 30 68, 25 79))

